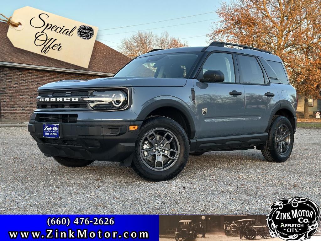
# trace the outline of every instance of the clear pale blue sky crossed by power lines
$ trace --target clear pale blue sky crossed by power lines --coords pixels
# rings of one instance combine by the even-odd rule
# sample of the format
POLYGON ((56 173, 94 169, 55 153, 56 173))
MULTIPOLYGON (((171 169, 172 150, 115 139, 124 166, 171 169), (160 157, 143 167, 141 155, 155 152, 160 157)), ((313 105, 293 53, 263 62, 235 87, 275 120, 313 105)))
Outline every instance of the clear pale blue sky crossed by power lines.
POLYGON ((213 22, 219 20, 215 11, 220 6, 221 1, 14 0, 1 2, 0 13, 7 17, 11 16, 16 9, 30 6, 88 25, 97 26, 99 31, 96 40, 117 50, 121 40, 129 38, 134 33, 131 31, 142 31, 146 29, 152 29, 149 31, 155 34, 167 31, 170 36, 180 38, 182 41, 187 40, 189 46, 207 46, 209 40, 205 35, 211 32, 210 28, 213 22), (181 19, 163 21, 174 18, 181 19), (143 25, 119 28, 136 24, 143 25), (184 25, 172 26, 178 24, 184 25))

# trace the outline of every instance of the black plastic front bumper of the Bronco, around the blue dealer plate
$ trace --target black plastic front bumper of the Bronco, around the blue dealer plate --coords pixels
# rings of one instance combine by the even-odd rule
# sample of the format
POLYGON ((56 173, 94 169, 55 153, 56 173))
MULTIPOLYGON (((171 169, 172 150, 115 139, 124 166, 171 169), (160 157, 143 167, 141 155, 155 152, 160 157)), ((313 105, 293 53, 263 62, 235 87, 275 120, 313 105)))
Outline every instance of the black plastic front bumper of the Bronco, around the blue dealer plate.
POLYGON ((45 156, 121 162, 134 153, 135 141, 143 121, 77 121, 61 123, 60 138, 44 138, 42 124, 30 120, 28 131, 45 156), (138 125, 129 130, 129 125, 138 125))

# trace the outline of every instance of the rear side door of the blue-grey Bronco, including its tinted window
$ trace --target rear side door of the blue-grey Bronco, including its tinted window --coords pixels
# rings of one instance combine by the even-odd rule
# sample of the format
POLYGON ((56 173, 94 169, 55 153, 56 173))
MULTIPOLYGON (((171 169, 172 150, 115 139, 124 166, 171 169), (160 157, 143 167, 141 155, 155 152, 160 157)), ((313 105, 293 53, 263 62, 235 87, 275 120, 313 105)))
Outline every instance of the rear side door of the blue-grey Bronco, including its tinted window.
POLYGON ((279 101, 258 58, 236 55, 240 82, 245 90, 244 135, 266 132, 275 104, 279 101))

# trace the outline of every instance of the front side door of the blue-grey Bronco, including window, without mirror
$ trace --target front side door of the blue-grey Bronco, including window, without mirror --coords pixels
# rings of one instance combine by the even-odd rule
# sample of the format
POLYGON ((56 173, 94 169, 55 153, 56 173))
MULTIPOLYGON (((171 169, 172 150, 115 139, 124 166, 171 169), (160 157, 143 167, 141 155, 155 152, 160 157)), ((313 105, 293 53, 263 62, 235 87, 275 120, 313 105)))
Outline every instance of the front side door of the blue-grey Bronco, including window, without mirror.
POLYGON ((238 136, 236 142, 242 139, 245 95, 243 85, 235 75, 238 73, 235 63, 233 54, 213 52, 204 61, 198 79, 194 79, 197 137, 209 137, 208 147, 212 137, 238 136), (221 70, 224 82, 200 82, 206 70, 221 70))

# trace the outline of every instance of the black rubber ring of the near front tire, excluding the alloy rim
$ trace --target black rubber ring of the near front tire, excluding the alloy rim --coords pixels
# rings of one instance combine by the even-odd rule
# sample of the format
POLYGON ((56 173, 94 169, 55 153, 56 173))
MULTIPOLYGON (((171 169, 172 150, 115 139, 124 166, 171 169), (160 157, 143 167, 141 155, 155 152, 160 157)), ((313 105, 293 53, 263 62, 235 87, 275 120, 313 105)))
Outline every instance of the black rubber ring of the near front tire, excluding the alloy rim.
POLYGON ((153 181, 169 180, 177 176, 185 167, 189 155, 189 142, 184 129, 174 120, 167 117, 150 118, 140 129, 135 142, 134 165, 146 179, 153 181), (144 136, 155 128, 169 129, 178 139, 179 156, 176 163, 164 171, 154 171, 148 168, 140 157, 140 142, 144 136))

